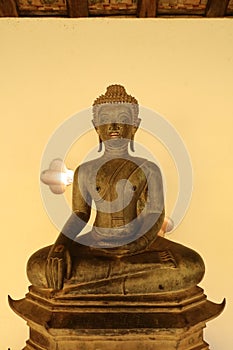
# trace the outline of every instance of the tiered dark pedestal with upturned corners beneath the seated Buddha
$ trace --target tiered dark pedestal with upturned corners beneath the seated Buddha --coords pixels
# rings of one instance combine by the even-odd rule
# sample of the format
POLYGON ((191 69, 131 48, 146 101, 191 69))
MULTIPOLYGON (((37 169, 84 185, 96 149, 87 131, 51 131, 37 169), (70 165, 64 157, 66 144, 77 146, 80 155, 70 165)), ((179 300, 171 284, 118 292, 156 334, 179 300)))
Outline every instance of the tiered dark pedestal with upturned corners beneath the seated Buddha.
POLYGON ((9 298, 27 321, 24 350, 201 350, 206 322, 225 306, 199 287, 151 295, 62 295, 35 287, 9 298))

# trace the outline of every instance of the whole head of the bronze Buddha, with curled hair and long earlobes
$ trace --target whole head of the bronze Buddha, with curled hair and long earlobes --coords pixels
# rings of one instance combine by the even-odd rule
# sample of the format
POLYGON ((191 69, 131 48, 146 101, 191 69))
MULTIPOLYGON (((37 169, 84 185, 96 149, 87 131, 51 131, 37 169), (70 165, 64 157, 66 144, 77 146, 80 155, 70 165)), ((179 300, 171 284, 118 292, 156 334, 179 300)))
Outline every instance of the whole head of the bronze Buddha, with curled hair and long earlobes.
POLYGON ((93 124, 102 142, 110 139, 130 141, 134 151, 134 135, 140 124, 137 100, 126 93, 122 85, 110 85, 106 93, 93 103, 93 124))

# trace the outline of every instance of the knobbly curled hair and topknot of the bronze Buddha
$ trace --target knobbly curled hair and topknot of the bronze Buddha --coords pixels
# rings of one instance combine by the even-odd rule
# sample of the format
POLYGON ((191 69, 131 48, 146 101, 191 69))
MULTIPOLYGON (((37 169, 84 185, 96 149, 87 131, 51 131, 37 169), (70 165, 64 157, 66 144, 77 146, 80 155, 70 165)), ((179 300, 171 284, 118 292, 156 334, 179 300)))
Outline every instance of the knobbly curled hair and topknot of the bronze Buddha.
POLYGON ((103 104, 110 103, 127 103, 133 111, 133 123, 137 124, 138 120, 138 101, 135 97, 128 95, 124 86, 114 84, 107 87, 106 93, 97 97, 93 103, 93 119, 96 120, 98 116, 98 110, 103 104))

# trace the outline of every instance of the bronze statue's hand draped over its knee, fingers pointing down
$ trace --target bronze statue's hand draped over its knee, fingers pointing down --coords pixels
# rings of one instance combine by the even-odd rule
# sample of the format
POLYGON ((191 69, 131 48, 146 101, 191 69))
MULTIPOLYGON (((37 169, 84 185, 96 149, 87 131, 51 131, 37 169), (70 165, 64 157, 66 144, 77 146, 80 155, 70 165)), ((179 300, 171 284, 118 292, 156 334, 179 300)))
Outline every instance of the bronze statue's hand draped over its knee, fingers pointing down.
POLYGON ((63 288, 64 279, 71 277, 71 258, 69 250, 63 245, 54 245, 46 261, 46 279, 48 288, 63 288))

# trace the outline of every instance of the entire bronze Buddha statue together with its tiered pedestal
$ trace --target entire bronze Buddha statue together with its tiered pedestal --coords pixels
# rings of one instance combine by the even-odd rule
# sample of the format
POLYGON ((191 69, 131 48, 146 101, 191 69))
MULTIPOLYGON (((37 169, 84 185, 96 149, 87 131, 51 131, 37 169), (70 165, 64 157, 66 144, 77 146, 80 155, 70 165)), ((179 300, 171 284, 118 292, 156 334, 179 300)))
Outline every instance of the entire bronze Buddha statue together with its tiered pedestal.
POLYGON ((102 155, 76 169, 70 218, 53 245, 29 258, 25 298, 9 297, 30 328, 24 350, 209 349, 205 322, 225 301, 207 300, 198 286, 200 255, 162 234, 160 169, 132 155, 138 114, 121 85, 94 101, 102 155))

